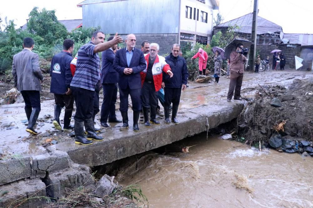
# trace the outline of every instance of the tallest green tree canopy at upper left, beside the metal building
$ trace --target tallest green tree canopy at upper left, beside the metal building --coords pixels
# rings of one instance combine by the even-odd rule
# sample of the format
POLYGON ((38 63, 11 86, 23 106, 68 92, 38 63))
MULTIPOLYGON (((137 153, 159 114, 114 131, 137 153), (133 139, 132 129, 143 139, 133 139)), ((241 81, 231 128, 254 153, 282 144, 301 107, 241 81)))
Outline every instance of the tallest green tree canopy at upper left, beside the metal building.
POLYGON ((45 42, 51 44, 56 39, 65 39, 68 32, 55 16, 55 10, 41 11, 34 7, 28 15, 27 29, 29 32, 43 37, 45 42))

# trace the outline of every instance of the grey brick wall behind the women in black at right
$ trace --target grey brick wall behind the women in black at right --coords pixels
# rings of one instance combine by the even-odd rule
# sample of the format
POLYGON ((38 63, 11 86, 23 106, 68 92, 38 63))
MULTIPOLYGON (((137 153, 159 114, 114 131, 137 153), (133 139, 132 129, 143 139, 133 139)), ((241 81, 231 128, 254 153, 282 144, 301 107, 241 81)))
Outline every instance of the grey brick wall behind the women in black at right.
POLYGON ((288 65, 290 68, 295 67, 295 56, 300 57, 301 47, 297 46, 296 48, 293 47, 287 47, 287 45, 257 45, 257 53, 260 54, 261 59, 265 59, 267 55, 269 55, 270 63, 272 63, 272 57, 273 53, 270 53, 271 51, 279 49, 284 52, 284 55, 286 57, 286 65, 288 65))

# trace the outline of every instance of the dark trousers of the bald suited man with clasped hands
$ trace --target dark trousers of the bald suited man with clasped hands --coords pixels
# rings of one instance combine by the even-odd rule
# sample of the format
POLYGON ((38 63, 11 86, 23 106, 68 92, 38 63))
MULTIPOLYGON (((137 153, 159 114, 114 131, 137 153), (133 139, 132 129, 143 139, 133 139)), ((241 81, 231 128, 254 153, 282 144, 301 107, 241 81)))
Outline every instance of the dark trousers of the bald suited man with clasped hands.
POLYGON ((131 103, 133 106, 133 111, 141 111, 141 101, 140 101, 140 91, 141 89, 130 89, 127 87, 126 89, 120 90, 120 111, 127 112, 128 111, 128 95, 131 96, 131 103))

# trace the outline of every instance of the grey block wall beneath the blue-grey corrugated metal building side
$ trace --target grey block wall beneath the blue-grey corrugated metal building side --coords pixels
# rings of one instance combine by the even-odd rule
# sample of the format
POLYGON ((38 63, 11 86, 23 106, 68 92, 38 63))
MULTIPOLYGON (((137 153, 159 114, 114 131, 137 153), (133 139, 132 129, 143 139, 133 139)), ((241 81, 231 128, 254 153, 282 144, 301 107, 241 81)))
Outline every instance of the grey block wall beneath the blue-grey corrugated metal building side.
MULTIPOLYGON (((125 39, 126 35, 121 35, 125 39)), ((135 34, 136 36, 136 48, 141 49, 141 42, 144 40, 150 43, 155 42, 160 46, 159 54, 165 54, 171 52, 171 47, 174 43, 178 43, 178 33, 169 34, 135 34)))

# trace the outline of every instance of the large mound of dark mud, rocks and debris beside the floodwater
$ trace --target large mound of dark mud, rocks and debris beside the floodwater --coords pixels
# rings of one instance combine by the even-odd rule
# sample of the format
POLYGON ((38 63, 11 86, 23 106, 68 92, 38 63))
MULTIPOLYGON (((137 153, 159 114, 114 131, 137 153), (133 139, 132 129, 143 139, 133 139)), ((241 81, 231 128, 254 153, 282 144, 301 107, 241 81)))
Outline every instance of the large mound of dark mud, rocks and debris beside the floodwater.
POLYGON ((262 143, 288 153, 313 155, 313 82, 295 79, 285 86, 260 86, 239 115, 241 141, 262 143))

